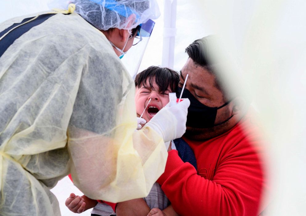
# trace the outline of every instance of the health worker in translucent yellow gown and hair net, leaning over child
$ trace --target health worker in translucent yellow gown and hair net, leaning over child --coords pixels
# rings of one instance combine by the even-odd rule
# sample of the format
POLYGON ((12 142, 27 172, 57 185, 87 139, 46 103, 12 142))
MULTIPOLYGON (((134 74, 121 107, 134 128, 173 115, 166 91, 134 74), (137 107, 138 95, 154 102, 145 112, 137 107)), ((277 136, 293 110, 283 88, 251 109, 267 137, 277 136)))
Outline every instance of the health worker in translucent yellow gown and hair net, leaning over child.
POLYGON ((1 215, 60 215, 49 189, 68 173, 93 199, 146 197, 164 142, 186 128, 189 100, 135 130, 134 81, 118 56, 156 18, 155 0, 71 3, 0 25, 1 215))

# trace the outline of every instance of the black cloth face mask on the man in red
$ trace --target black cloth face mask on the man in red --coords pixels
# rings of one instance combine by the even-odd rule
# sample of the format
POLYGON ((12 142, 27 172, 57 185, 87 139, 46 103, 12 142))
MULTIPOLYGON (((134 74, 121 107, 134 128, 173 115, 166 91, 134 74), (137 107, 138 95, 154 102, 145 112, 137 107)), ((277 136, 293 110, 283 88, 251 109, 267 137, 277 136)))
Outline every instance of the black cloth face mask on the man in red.
MULTIPOLYGON (((177 98, 180 97, 180 93, 182 88, 178 88, 176 91, 177 98)), ((226 119, 225 121, 215 124, 217 110, 221 109, 222 107, 226 106, 232 100, 229 100, 225 104, 219 107, 209 107, 205 106, 201 102, 199 102, 187 89, 184 89, 182 98, 188 98, 190 100, 190 106, 188 107, 188 115, 187 115, 187 123, 186 126, 193 127, 193 128, 212 128, 214 126, 221 125, 227 122, 230 118, 226 119)))

